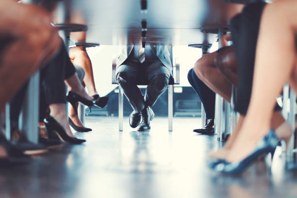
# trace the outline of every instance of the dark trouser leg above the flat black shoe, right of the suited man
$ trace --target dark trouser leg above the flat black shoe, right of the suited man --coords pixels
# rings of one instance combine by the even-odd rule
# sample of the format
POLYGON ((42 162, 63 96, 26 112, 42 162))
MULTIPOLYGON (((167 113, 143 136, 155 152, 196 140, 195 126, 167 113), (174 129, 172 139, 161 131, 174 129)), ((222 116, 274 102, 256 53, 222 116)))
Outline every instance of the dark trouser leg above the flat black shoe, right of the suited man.
POLYGON ((188 81, 203 104, 206 119, 214 119, 215 93, 198 79, 193 68, 188 73, 188 81))

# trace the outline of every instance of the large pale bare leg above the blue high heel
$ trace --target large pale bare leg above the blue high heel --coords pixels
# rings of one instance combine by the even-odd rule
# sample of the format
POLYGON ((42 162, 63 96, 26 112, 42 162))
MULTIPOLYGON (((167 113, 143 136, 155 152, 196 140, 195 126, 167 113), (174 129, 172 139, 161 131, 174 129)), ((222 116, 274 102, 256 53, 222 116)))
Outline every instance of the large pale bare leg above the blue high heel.
POLYGON ((264 9, 251 100, 240 134, 226 158, 229 162, 245 158, 270 128, 275 98, 296 63, 296 8, 296 0, 282 0, 264 9))

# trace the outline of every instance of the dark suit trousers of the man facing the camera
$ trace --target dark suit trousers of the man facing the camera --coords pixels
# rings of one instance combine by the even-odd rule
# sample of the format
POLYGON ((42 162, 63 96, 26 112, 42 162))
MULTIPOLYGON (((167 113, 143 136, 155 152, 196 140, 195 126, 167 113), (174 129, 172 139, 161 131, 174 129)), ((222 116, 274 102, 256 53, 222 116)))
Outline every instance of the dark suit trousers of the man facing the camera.
POLYGON ((169 78, 170 72, 161 61, 140 64, 127 60, 116 69, 116 80, 137 113, 155 104, 166 91, 169 78), (148 84, 144 97, 137 84, 148 84))

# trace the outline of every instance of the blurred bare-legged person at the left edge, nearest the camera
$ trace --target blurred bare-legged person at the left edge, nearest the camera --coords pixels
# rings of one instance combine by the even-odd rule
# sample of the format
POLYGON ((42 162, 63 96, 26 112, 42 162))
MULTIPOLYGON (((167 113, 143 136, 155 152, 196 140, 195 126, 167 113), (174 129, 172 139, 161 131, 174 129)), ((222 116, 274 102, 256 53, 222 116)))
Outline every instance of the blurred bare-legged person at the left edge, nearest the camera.
MULTIPOLYGON (((1 0, 0 13, 2 111, 5 103, 12 99, 22 84, 55 55, 61 45, 61 39, 57 30, 50 25, 49 14, 37 6, 18 4, 14 0, 1 0), (10 9, 7 9, 8 7, 10 9), (11 10, 14 10, 14 15, 11 15, 11 10)), ((1 134, 0 165, 7 165, 11 162, 10 159, 15 160, 18 157, 22 157, 22 153, 13 148, 1 134)))

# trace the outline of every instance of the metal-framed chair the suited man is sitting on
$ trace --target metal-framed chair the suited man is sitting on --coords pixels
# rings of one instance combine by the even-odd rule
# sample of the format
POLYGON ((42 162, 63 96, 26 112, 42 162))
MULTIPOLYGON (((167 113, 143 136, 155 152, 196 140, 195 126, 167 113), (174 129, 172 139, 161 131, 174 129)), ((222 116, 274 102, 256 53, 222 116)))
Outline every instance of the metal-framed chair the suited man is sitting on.
MULTIPOLYGON (((172 53, 170 53, 172 54, 172 53)), ((116 57, 113 58, 112 64, 112 84, 117 84, 116 82, 116 57)), ((171 58, 172 62, 172 58, 171 58)), ((172 132, 173 128, 173 86, 174 84, 180 84, 180 63, 178 59, 175 59, 175 64, 173 64, 172 74, 174 75, 175 70, 175 78, 171 78, 169 80, 168 85, 168 131, 172 132)), ((137 85, 148 85, 148 84, 137 84, 137 85)), ((118 130, 123 131, 123 116, 124 116, 124 95, 123 90, 120 86, 118 86, 118 130)))

